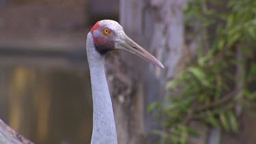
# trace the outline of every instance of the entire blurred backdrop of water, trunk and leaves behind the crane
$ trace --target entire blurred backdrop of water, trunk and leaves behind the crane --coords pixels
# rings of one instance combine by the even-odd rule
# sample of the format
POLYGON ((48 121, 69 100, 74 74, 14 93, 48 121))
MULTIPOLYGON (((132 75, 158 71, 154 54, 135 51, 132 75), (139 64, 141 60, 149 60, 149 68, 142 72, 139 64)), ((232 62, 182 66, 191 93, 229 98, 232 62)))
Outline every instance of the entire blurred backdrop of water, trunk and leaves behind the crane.
POLYGON ((106 56, 119 144, 254 144, 255 0, 0 0, 0 119, 35 143, 89 143, 85 52, 119 21, 160 70, 106 56))

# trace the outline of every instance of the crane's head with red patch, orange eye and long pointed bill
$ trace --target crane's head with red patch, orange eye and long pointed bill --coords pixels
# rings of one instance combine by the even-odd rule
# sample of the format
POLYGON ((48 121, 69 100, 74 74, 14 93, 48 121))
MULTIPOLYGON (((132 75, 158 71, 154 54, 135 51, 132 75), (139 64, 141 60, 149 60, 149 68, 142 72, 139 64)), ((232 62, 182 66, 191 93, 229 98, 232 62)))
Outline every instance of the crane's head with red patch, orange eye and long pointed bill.
POLYGON ((126 33, 124 33, 123 27, 114 20, 100 20, 91 28, 90 32, 94 40, 96 51, 101 55, 105 55, 111 50, 124 50, 150 61, 159 68, 164 68, 162 63, 153 55, 130 39, 126 33))

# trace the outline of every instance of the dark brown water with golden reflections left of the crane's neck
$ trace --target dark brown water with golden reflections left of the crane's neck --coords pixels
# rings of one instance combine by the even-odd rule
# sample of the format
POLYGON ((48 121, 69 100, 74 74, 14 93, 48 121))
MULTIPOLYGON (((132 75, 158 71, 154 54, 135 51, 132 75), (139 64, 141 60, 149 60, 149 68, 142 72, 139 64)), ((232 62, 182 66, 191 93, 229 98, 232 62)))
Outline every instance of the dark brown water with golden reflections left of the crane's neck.
POLYGON ((35 143, 89 143, 87 68, 0 67, 0 118, 35 143))

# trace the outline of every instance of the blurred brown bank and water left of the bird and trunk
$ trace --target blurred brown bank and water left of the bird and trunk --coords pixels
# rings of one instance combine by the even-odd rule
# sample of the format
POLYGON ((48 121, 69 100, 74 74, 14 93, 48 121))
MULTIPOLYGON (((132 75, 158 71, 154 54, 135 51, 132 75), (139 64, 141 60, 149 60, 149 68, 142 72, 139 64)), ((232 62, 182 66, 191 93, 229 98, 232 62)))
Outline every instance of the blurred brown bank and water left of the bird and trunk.
POLYGON ((1 119, 35 143, 89 143, 86 35, 118 10, 118 0, 1 0, 1 119))

